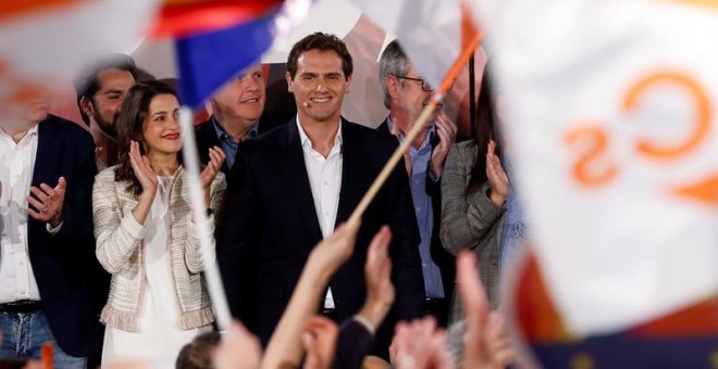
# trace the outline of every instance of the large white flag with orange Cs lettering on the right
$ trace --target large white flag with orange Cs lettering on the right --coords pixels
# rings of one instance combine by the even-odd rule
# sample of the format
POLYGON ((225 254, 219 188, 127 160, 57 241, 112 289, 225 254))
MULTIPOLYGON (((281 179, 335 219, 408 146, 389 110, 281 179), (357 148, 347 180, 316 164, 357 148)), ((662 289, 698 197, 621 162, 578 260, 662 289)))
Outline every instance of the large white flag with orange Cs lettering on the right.
POLYGON ((700 335, 716 349, 718 2, 475 3, 562 334, 708 302, 700 335))

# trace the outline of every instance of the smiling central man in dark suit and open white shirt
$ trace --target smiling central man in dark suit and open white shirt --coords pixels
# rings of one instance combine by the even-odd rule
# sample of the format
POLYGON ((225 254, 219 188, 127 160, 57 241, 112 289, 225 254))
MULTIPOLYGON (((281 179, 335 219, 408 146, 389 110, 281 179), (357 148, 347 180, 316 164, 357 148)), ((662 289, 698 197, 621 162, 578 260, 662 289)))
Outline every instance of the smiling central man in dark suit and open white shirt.
MULTIPOLYGON (((219 262, 232 313, 270 339, 311 249, 346 221, 382 169, 396 141, 341 116, 351 81, 351 55, 335 36, 298 41, 287 61, 297 118, 242 144, 227 189, 228 212, 219 262)), ((351 258, 327 285, 318 308, 343 321, 361 307, 367 247, 384 224, 394 234, 389 255, 396 287, 394 319, 377 334, 386 357, 396 318, 421 314, 419 233, 407 174, 392 173, 362 218, 351 258)), ((392 315, 391 315, 392 316, 392 315)))

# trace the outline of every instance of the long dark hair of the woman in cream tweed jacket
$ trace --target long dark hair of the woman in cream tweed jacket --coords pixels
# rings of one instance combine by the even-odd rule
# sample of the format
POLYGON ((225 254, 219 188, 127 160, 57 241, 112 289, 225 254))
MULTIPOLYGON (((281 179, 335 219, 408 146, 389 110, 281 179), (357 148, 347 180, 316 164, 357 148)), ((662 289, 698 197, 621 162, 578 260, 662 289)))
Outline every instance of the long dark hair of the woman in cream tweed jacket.
MULTIPOLYGON (((120 115, 115 122, 117 129, 117 167, 114 169, 114 180, 128 181, 127 192, 135 196, 143 193, 143 186, 139 183, 135 170, 132 168, 129 162, 129 142, 137 141, 139 143, 139 154, 147 155, 147 147, 144 142, 143 127, 145 119, 149 114, 149 105, 154 97, 160 94, 172 94, 177 97, 176 92, 168 85, 151 80, 135 85, 127 91, 125 100, 120 107, 120 115)), ((182 155, 177 155, 177 160, 182 163, 182 155)))

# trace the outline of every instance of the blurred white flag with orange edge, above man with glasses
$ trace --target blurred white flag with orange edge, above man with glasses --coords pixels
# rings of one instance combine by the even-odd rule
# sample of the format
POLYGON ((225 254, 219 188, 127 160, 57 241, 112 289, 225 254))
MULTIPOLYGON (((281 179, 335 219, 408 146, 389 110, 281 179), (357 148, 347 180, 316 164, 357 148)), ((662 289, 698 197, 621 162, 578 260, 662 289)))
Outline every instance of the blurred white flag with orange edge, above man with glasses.
POLYGON ((462 51, 474 49, 479 30, 463 0, 351 0, 396 36, 422 77, 441 86, 462 51))

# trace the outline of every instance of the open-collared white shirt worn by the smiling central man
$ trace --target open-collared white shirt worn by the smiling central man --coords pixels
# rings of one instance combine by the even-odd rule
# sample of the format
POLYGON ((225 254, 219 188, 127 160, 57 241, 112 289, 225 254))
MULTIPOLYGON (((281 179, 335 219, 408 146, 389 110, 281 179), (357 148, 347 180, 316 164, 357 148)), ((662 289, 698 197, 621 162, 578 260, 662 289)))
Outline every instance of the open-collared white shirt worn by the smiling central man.
MULTIPOLYGON (((299 117, 297 117, 297 128, 299 129, 299 139, 305 155, 305 166, 307 167, 311 195, 314 199, 317 219, 322 229, 322 237, 327 238, 334 232, 336 212, 339 207, 343 162, 342 122, 339 120, 339 129, 334 138, 334 147, 332 147, 326 157, 312 148, 309 136, 307 136, 304 128, 301 128, 301 124, 299 124, 299 117)), ((334 308, 332 289, 326 291, 324 308, 334 308)))

